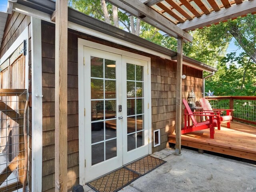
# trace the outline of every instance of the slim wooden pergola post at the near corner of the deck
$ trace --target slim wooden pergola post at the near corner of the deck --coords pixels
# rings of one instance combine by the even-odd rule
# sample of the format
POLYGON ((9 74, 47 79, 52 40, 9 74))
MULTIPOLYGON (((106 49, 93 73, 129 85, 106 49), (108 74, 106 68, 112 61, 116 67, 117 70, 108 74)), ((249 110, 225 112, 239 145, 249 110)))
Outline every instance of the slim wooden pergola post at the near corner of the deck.
POLYGON ((183 38, 178 38, 177 49, 177 76, 176 76, 176 148, 175 154, 180 155, 181 150, 181 111, 182 111, 182 57, 183 57, 183 38))

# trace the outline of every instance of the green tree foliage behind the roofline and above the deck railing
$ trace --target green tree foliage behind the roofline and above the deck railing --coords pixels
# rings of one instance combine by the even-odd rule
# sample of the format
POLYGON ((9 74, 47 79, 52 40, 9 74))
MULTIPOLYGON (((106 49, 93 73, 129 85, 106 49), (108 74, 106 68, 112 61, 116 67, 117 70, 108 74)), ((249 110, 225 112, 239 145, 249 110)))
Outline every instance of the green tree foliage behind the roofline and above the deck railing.
MULTIPOLYGON (((117 11, 116 7, 105 0, 69 2, 72 8, 80 12, 171 50, 177 50, 175 38, 162 36, 158 29, 117 11)), ((184 55, 218 69, 214 76, 206 79, 206 92, 210 90, 218 96, 256 95, 256 15, 248 14, 246 17, 220 22, 189 33, 194 40, 184 44, 184 55), (236 40, 236 46, 244 50, 239 56, 235 52, 226 54, 232 38, 236 40)))

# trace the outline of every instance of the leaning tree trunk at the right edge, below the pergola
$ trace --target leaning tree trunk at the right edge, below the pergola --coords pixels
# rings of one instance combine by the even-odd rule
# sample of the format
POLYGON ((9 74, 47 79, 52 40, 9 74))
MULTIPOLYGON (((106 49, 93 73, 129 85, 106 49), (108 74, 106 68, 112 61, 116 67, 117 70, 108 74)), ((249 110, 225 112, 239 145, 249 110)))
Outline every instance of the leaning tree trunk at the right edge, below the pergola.
POLYGON ((229 32, 236 39, 241 48, 249 55, 249 57, 256 63, 256 48, 252 42, 249 42, 240 32, 236 24, 230 24, 229 32))

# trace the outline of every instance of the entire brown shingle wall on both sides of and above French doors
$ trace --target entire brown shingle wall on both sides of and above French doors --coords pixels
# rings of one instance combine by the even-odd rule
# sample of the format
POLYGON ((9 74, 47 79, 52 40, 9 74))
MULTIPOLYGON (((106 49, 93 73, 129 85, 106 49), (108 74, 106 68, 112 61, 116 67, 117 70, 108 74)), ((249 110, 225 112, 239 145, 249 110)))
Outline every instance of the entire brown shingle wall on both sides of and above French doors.
MULTIPOLYGON (((54 191, 54 71, 55 71, 55 28, 42 23, 42 84, 43 84, 43 159, 42 191, 54 191)), ((152 152, 168 146, 168 134, 175 129, 176 108, 176 63, 138 52, 130 48, 70 30, 68 32, 68 189, 79 183, 78 159, 78 38, 84 38, 121 50, 151 58, 152 87, 152 133, 160 129, 161 145, 152 152)), ((202 71, 184 66, 182 94, 194 88, 198 96, 202 92, 202 71)), ((153 135, 153 134, 152 134, 153 135)), ((82 139, 82 138, 81 138, 82 139)))

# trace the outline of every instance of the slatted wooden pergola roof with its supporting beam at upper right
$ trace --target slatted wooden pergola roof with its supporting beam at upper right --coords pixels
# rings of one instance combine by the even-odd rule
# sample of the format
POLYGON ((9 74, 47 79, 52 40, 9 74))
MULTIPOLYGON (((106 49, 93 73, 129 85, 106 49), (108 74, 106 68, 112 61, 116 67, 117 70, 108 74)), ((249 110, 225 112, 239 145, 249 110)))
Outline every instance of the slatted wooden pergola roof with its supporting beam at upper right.
MULTIPOLYGON (((137 0, 136 0, 137 1, 137 0)), ((255 0, 140 0, 145 5, 170 19, 182 30, 189 31, 225 22, 238 16, 256 12, 255 0), (159 10, 160 8, 160 10, 159 10)))

